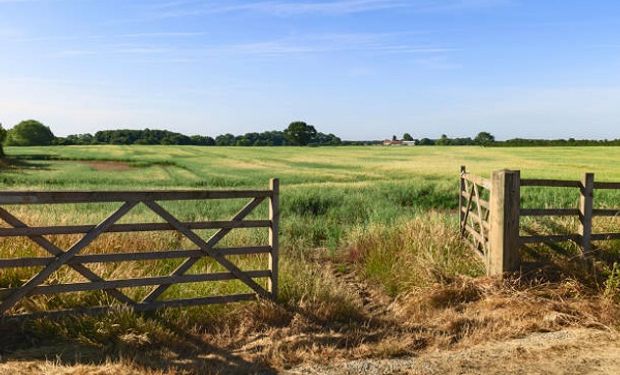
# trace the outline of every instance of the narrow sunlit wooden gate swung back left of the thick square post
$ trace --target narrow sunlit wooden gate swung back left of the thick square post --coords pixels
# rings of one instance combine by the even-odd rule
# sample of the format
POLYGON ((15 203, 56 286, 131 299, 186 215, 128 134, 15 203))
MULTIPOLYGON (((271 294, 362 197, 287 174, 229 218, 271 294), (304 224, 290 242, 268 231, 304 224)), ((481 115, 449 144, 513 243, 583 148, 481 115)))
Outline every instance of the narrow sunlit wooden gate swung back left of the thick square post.
POLYGON ((459 192, 459 227, 461 236, 466 243, 480 255, 487 259, 489 252, 489 200, 484 196, 490 194, 491 182, 487 179, 467 173, 461 167, 459 192))

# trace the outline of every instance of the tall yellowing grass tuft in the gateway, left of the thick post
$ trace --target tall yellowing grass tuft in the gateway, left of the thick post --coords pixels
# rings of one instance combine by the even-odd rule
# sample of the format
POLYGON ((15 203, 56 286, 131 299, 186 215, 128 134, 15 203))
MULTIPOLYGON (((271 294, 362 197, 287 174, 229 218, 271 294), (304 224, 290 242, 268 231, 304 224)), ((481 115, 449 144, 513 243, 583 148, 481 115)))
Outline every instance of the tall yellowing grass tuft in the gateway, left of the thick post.
POLYGON ((348 257, 392 297, 457 275, 482 275, 482 263, 460 241, 454 223, 432 212, 394 225, 355 228, 348 257))

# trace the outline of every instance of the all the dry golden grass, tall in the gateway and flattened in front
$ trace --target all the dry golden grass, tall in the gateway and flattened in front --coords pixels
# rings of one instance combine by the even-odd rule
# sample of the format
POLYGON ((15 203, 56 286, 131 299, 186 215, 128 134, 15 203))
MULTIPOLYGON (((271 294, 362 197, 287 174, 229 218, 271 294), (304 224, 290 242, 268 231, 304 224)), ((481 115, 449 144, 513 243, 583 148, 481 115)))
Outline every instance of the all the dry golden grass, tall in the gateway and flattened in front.
MULTIPOLYGON (((72 239, 56 240, 68 244, 72 239)), ((184 245, 179 238, 114 236, 96 251, 119 251, 127 243, 144 249, 184 245)), ((27 248, 26 242, 19 244, 27 248)), ((608 245, 601 254, 613 253, 608 245)), ((440 212, 354 230, 335 256, 326 249, 309 255, 291 246, 282 258, 277 305, 255 302, 145 315, 120 310, 20 326, 5 322, 0 325, 1 352, 8 362, 0 365, 0 373, 269 373, 301 363, 417 355, 566 327, 619 328, 617 271, 605 274, 607 263, 598 261, 599 277, 593 278, 587 264, 556 254, 553 267, 505 281, 481 277, 479 261, 461 246, 454 223, 440 212), (369 289, 372 293, 366 293, 369 289), (385 311, 371 311, 373 302, 385 304, 385 311)), ((256 262, 240 259, 244 267, 256 262)), ((96 272, 124 278, 153 269, 165 273, 173 266, 100 266, 96 272)), ((198 271, 212 268, 205 263, 198 271)), ((9 279, 3 274, 3 282, 9 279)), ((52 281, 77 279, 67 270, 52 281)), ((172 296, 214 291, 204 288, 190 284, 172 296)), ((68 296, 37 297, 22 308, 107 302, 102 294, 68 296)))

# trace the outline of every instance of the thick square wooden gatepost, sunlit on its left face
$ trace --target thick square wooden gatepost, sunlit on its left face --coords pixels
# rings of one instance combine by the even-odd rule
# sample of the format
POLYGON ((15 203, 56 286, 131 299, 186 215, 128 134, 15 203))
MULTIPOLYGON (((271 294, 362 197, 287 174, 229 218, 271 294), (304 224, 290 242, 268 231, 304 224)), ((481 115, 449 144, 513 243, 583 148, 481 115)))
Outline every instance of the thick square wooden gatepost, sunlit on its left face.
POLYGON ((519 269, 519 171, 494 171, 491 177, 489 255, 487 274, 503 275, 519 269))

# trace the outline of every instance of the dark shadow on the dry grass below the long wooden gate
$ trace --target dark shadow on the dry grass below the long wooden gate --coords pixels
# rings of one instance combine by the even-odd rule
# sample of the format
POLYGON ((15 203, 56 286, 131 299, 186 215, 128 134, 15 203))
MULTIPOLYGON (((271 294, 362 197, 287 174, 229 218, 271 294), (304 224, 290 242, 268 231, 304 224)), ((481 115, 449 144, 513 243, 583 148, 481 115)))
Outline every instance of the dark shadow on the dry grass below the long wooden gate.
MULTIPOLYGON (((116 337, 110 342, 97 342, 96 338, 86 337, 56 338, 54 335, 32 332, 28 320, 0 322, 0 364, 6 362, 53 361, 60 366, 91 365, 104 366, 107 363, 129 361, 138 369, 181 373, 225 373, 225 374, 275 374, 277 371, 261 361, 252 361, 235 355, 232 351, 210 344, 197 335, 188 333, 172 321, 163 319, 155 313, 140 314, 155 320, 162 328, 174 335, 174 340, 166 343, 150 344, 140 342, 139 335, 133 339, 116 337), (89 342, 92 339, 91 342, 89 342)), ((79 324, 80 316, 60 325, 79 324)), ((131 330, 130 330, 131 331, 131 330)), ((126 335, 125 335, 126 336, 126 335)))

